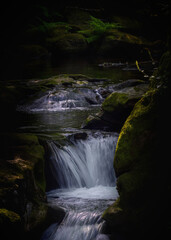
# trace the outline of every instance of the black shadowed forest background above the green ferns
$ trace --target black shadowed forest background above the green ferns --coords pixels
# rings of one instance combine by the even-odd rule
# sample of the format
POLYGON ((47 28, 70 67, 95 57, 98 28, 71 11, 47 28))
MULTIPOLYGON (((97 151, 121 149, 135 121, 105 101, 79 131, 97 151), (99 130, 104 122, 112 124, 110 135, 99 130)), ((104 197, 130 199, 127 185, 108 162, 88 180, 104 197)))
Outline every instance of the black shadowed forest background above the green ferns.
MULTIPOLYGON (((131 24, 139 26, 129 31, 150 41, 162 40, 166 45, 169 28, 169 0, 120 0, 120 1, 6 1, 1 5, 1 46, 0 58, 2 69, 7 69, 23 56, 17 53, 19 46, 29 44, 30 26, 42 23, 67 22, 68 14, 74 9, 83 9, 91 15, 111 22, 114 16, 129 18, 131 24), (11 64, 10 64, 11 63, 11 64)), ((128 31, 128 29, 127 29, 128 31)), ((39 43, 42 36, 39 35, 39 43)), ((37 40, 36 40, 37 41, 37 40)))

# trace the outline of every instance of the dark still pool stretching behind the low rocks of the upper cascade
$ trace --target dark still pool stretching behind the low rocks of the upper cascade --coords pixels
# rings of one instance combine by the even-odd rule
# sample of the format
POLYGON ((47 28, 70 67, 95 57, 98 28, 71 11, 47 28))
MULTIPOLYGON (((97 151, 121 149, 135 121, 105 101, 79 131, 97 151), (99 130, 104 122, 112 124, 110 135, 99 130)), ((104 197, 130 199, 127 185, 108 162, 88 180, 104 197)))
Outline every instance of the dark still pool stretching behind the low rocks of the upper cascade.
POLYGON ((90 77, 110 78, 114 81, 140 77, 135 61, 93 57, 65 57, 55 60, 34 60, 21 66, 17 61, 4 69, 5 79, 48 78, 58 74, 81 73, 90 77), (112 67, 102 67, 101 64, 114 63, 112 67), (10 69, 10 70, 9 70, 10 69), (122 71, 124 69, 124 72, 122 71))

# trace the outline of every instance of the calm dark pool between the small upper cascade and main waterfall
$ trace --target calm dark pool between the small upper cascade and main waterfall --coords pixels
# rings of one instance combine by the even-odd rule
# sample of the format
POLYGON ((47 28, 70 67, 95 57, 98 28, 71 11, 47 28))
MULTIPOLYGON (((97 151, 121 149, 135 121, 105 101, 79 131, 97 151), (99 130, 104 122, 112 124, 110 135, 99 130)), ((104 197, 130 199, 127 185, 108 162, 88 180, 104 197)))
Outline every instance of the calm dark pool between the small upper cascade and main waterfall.
POLYGON ((18 113, 18 130, 24 132, 53 134, 55 132, 74 132, 90 114, 99 111, 98 107, 84 110, 58 112, 18 113))

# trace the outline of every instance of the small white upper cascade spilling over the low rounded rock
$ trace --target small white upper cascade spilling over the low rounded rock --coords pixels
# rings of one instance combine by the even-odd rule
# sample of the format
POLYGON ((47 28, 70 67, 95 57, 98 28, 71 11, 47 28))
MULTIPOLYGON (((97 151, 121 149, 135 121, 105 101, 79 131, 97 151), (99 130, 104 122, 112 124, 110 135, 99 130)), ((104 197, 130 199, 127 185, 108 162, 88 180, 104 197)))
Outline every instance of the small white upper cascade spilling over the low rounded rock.
POLYGON ((100 105, 103 97, 98 88, 54 88, 37 98, 33 103, 18 106, 19 111, 56 112, 68 109, 85 109, 100 105))

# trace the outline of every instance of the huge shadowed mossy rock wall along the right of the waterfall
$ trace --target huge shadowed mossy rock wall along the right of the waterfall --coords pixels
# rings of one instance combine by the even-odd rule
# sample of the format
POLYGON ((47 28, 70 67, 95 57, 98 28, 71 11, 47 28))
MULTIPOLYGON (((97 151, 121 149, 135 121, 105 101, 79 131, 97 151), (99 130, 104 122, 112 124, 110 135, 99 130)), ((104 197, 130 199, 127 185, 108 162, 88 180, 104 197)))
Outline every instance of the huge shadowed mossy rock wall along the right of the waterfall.
POLYGON ((122 127, 115 152, 120 197, 103 217, 112 231, 117 229, 128 239, 144 239, 147 234, 156 239, 169 234, 171 184, 167 135, 170 126, 165 106, 170 75, 169 69, 164 72, 167 78, 159 68, 157 76, 160 73, 162 76, 153 79, 153 88, 136 103, 122 127), (158 81, 162 84, 158 85, 158 81))

